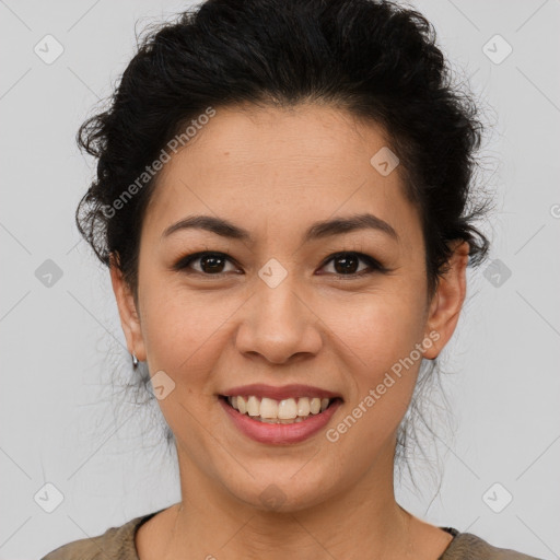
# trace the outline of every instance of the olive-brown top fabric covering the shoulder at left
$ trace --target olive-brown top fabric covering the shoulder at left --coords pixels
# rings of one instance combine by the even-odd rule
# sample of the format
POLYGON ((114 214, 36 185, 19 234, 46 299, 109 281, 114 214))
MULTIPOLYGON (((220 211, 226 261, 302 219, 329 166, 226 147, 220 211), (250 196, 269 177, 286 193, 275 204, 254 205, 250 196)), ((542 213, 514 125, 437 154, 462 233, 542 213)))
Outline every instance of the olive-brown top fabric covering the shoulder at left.
POLYGON ((62 545, 40 560, 138 560, 136 532, 156 513, 159 511, 135 517, 119 527, 108 528, 102 535, 62 545))

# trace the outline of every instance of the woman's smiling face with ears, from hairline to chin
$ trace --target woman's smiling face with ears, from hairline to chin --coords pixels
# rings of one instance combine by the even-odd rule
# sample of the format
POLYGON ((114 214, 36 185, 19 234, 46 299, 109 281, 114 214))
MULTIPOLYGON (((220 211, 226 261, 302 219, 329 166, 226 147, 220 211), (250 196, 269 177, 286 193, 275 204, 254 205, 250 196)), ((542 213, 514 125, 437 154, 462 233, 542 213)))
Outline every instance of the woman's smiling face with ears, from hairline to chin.
POLYGON ((232 107, 164 165, 141 232, 138 315, 112 273, 184 481, 298 510, 392 475, 421 355, 450 338, 464 289, 459 269, 428 299, 420 217, 401 170, 387 174, 386 145, 381 128, 325 106, 232 107), (173 228, 199 215, 228 225, 173 228), (220 255, 186 262, 201 252, 220 255), (275 393, 288 385, 300 387, 275 393), (338 399, 325 412, 292 423, 220 397, 277 396, 259 411, 304 416, 302 397, 327 394, 338 399))

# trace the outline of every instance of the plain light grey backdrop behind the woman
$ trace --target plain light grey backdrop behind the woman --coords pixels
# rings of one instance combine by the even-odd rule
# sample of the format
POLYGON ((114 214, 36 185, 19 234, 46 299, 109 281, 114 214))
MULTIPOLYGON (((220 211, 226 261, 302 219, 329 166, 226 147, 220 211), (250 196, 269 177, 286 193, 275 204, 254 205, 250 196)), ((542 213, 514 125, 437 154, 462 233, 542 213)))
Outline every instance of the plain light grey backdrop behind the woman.
MULTIPOLYGON (((136 22, 141 30, 185 5, 0 0, 2 559, 39 558, 179 498, 174 455, 158 446, 158 430, 142 432, 159 425, 159 409, 115 412, 110 372, 126 381, 131 370, 108 273, 80 242, 73 212, 93 174, 74 144, 79 125, 132 56, 136 22), (34 51, 47 56, 47 34, 63 47, 51 63, 34 51), (46 482, 63 497, 52 513, 46 482)), ((483 224, 492 254, 469 273, 446 351, 453 423, 436 411, 432 458, 416 464, 422 491, 405 479, 397 495, 431 523, 559 558, 560 2, 413 5, 488 104, 482 179, 497 210, 483 224), (508 46, 490 40, 497 34, 513 48, 500 63, 508 46)))

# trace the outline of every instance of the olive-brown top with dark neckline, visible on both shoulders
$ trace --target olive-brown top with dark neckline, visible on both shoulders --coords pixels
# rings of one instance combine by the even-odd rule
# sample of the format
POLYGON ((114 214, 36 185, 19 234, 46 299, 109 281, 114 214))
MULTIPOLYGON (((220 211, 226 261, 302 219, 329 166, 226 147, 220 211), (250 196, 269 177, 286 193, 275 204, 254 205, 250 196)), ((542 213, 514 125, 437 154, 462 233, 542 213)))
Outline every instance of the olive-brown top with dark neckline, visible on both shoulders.
MULTIPOLYGON (((135 517, 97 537, 62 545, 40 560, 140 560, 135 545, 136 532, 140 525, 162 511, 135 517)), ((470 533, 459 533, 453 527, 441 528, 454 538, 438 560, 541 560, 514 550, 495 548, 470 533)))

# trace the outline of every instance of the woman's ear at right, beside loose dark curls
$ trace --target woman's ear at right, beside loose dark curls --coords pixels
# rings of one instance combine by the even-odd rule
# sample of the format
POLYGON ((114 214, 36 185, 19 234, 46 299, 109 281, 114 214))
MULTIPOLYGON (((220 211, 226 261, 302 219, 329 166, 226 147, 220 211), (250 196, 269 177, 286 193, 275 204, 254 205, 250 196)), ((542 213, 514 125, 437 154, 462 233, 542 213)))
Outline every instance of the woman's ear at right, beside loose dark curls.
POLYGON ((424 358, 428 360, 438 358, 452 337, 459 319, 467 291, 468 249, 467 242, 455 242, 452 245, 453 254, 448 260, 448 269, 439 278, 438 289, 430 302, 427 331, 435 331, 440 336, 438 339, 434 338, 434 343, 424 351, 424 358))

